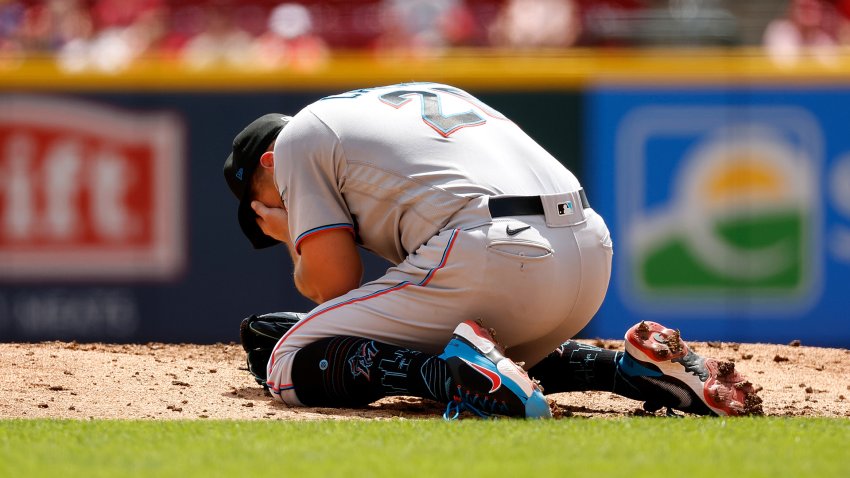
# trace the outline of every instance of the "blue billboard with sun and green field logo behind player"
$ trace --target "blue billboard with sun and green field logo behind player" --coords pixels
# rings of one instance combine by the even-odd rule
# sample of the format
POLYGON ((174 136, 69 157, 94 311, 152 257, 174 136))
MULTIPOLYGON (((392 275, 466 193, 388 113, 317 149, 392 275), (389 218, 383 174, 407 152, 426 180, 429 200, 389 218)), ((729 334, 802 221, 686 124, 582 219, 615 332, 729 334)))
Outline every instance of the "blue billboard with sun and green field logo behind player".
POLYGON ((588 195, 615 243, 585 335, 850 345, 850 88, 588 94, 588 195))

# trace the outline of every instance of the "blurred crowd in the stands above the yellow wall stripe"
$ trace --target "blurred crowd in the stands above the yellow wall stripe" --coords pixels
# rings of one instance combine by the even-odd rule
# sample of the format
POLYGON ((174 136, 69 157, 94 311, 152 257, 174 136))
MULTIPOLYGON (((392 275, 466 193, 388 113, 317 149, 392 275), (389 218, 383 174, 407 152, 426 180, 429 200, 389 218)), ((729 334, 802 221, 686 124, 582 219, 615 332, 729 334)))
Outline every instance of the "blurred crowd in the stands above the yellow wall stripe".
POLYGON ((119 71, 145 56, 192 68, 309 70, 331 51, 763 44, 824 61, 850 42, 850 0, 0 0, 0 62, 55 57, 119 71))

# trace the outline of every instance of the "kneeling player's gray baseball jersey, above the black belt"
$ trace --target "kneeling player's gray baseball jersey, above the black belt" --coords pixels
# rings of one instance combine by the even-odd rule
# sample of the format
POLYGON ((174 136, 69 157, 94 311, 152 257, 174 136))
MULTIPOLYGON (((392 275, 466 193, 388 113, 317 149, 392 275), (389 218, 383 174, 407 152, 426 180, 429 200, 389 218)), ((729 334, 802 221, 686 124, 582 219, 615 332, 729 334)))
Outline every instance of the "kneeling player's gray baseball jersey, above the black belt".
POLYGON ((274 152, 296 249, 310 234, 352 228, 358 243, 395 264, 473 198, 579 187, 514 123, 436 83, 324 98, 292 118, 274 152))

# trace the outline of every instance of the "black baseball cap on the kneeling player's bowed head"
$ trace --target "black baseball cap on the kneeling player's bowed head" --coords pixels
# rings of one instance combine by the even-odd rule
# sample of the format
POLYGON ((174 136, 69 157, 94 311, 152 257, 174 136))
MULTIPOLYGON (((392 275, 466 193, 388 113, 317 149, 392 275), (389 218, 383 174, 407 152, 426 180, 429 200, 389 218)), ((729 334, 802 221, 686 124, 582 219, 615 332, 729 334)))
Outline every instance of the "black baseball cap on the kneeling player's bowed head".
POLYGON ((260 164, 260 157, 268 151, 289 120, 289 116, 280 113, 269 113, 255 119, 233 139, 233 151, 224 162, 224 179, 239 200, 239 226, 255 249, 280 243, 263 233, 257 224, 257 214, 251 208, 251 178, 260 164))

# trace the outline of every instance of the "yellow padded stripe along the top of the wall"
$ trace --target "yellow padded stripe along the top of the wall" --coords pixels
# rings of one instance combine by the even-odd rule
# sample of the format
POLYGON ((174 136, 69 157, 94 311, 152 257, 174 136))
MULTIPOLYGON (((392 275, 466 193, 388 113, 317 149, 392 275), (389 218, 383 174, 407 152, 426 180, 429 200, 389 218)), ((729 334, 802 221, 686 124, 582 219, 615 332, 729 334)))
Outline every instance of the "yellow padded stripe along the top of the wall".
POLYGON ((120 73, 62 71, 52 58, 0 57, 0 90, 73 91, 286 91, 337 90, 405 81, 438 81, 487 90, 581 89, 623 84, 844 84, 850 50, 829 62, 802 58, 779 65, 760 49, 454 50, 431 57, 376 57, 336 52, 312 70, 193 70, 157 58, 120 73))

